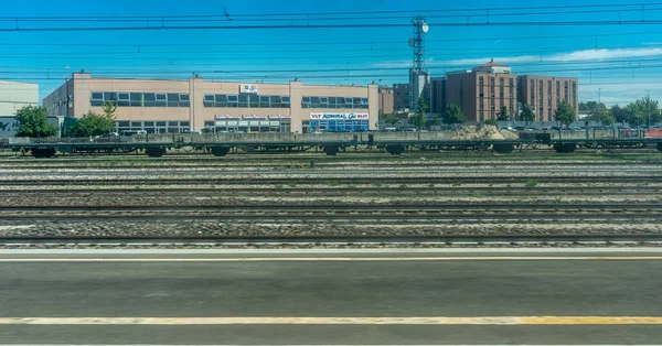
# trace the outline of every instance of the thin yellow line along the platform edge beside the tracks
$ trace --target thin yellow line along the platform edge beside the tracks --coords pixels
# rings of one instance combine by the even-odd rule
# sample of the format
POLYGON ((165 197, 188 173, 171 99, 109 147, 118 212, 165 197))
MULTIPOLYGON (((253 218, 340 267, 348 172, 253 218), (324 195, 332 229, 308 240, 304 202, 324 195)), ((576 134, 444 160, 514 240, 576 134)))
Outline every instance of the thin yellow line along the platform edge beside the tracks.
POLYGON ((662 256, 0 258, 0 262, 658 261, 662 256))

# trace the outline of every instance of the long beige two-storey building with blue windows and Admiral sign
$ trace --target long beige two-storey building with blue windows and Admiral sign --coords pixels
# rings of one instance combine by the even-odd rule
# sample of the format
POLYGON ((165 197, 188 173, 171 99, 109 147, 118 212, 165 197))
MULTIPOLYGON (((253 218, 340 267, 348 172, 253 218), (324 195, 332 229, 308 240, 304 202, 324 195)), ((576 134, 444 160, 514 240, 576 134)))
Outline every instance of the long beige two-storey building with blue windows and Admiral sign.
POLYGON ((99 78, 73 74, 43 99, 52 116, 82 117, 117 105, 118 132, 348 132, 376 129, 377 85, 99 78))

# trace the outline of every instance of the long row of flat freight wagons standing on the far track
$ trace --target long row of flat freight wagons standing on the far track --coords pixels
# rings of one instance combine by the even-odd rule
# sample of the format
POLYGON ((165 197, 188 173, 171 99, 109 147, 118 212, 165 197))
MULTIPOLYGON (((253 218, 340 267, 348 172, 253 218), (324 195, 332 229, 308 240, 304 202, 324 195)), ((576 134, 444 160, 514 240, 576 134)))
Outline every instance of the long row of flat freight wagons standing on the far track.
POLYGON ((559 153, 578 148, 656 148, 662 151, 662 131, 596 130, 522 131, 510 139, 458 131, 429 132, 356 132, 356 133, 166 133, 108 138, 12 138, 8 147, 30 152, 35 158, 52 158, 62 153, 115 153, 145 151, 149 156, 162 156, 171 149, 197 149, 216 156, 232 150, 297 151, 321 150, 335 155, 348 148, 377 148, 391 154, 406 150, 493 150, 510 153, 514 149, 551 147, 559 153))

